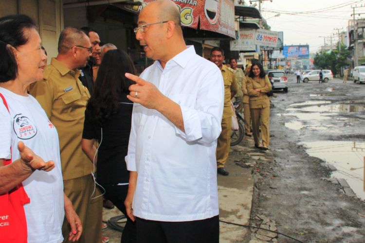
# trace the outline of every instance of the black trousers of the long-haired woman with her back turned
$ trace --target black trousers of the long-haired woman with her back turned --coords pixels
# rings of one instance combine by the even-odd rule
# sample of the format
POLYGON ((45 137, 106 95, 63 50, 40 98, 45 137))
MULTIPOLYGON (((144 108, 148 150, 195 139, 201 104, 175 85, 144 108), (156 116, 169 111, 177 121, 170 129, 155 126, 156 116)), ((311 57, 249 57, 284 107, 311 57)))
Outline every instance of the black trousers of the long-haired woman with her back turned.
POLYGON ((127 216, 126 206, 124 201, 127 197, 128 185, 102 185, 105 189, 106 197, 119 209, 127 218, 126 226, 124 226, 121 243, 135 243, 137 242, 137 228, 136 222, 133 222, 127 216))

